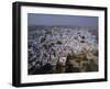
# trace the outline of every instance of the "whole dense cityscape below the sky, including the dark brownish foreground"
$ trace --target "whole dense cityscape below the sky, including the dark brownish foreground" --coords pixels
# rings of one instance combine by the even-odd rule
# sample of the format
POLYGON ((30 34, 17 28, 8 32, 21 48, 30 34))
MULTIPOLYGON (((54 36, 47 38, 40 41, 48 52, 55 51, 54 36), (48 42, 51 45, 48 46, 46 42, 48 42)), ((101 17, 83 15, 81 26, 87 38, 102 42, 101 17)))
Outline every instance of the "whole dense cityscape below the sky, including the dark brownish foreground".
POLYGON ((29 75, 98 71, 98 30, 29 26, 29 75))

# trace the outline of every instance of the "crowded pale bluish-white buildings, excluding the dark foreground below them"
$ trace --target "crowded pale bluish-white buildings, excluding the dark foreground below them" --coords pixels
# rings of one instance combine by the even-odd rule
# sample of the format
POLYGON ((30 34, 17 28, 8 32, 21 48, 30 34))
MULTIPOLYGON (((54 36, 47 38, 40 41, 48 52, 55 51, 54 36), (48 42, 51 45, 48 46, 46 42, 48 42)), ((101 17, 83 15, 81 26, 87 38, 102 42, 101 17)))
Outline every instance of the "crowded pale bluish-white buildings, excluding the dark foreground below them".
MULTIPOLYGON (((76 60, 79 58, 81 60, 86 56, 88 59, 94 59, 95 64, 98 65, 98 35, 94 35, 91 32, 92 30, 87 27, 29 27, 29 70, 37 62, 41 62, 42 66, 51 64, 55 67, 57 63, 65 66, 68 55, 75 55, 77 57, 76 60)), ((80 63, 77 64, 75 59, 69 62, 76 67, 81 67, 80 63)), ((81 60, 81 63, 84 62, 81 60)))

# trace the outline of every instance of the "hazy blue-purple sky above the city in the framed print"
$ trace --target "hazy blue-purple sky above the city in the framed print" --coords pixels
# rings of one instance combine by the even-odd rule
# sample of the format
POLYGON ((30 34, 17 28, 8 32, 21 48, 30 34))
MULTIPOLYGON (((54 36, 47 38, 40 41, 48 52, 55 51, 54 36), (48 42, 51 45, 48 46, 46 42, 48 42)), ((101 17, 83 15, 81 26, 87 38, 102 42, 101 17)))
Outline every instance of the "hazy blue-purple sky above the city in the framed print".
POLYGON ((98 27, 98 16, 28 13, 29 25, 79 25, 98 27))

